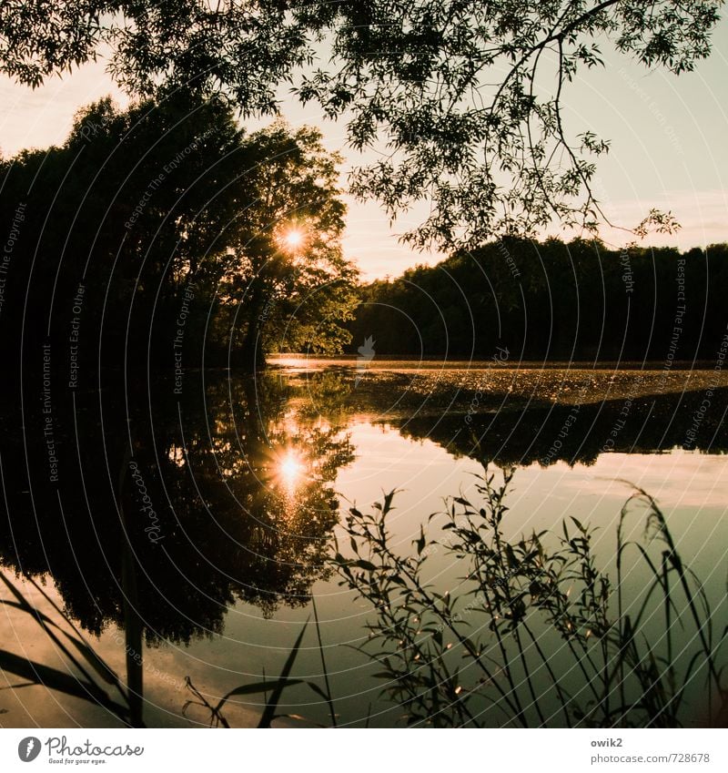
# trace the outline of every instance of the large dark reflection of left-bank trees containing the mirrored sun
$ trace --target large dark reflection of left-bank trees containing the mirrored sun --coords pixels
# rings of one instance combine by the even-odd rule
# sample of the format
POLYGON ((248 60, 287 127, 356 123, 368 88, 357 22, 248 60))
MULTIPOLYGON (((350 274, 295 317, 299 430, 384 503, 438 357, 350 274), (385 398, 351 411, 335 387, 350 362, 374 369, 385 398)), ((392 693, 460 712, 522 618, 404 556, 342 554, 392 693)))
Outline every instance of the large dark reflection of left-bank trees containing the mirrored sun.
POLYGON ((332 483, 353 454, 339 425, 310 410, 315 391, 297 404, 275 377, 209 374, 173 390, 127 385, 126 398, 111 388, 59 405, 57 483, 40 403, 26 411, 25 447, 4 442, 0 561, 51 575, 91 631, 123 622, 126 546, 152 641, 219 632, 238 600, 264 614, 306 604, 326 574, 332 483))

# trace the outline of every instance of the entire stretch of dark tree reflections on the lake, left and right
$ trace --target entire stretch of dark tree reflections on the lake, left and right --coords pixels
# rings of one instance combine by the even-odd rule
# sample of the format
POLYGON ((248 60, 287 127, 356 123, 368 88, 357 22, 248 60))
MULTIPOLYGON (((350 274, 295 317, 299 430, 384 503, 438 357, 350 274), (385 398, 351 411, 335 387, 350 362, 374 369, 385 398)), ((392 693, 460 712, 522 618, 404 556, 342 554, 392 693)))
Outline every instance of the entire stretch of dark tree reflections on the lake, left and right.
MULTIPOLYGON (((250 380, 188 373, 181 395, 171 381, 150 388, 130 381, 125 394, 109 377, 100 398, 74 392, 54 404, 58 483, 48 480, 43 402, 29 395, 25 415, 3 420, 0 560, 19 572, 50 574, 68 613, 99 631, 123 619, 128 544, 147 638, 187 641, 219 632, 237 601, 264 614, 308 601, 311 584, 325 576, 326 543, 337 523, 336 475, 353 459, 343 430, 352 414, 428 438, 454 456, 591 463, 621 418, 614 451, 681 445, 703 400, 703 392, 640 398, 626 417, 622 400, 585 403, 564 432, 571 405, 509 398, 495 410, 503 395, 489 394, 466 422, 470 392, 442 404, 437 394, 409 390, 409 375, 371 374, 355 387, 356 375, 268 372, 250 380)), ((714 410, 693 447, 728 449, 726 404, 725 391, 715 390, 714 410)))

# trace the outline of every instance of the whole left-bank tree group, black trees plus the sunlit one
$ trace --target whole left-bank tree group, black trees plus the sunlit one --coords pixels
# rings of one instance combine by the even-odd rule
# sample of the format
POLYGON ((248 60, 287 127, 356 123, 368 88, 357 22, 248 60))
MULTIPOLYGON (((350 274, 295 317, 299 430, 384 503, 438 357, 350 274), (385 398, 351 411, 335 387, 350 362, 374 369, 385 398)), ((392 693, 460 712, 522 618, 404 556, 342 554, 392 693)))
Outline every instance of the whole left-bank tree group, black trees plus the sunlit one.
POLYGON ((137 372, 227 364, 231 349, 252 367, 277 341, 338 350, 356 277, 338 161, 306 127, 246 135, 215 96, 87 107, 62 147, 0 160, 5 233, 24 208, 3 345, 32 352, 51 336, 65 356, 77 318, 87 375, 101 344, 101 364, 126 350, 137 372))

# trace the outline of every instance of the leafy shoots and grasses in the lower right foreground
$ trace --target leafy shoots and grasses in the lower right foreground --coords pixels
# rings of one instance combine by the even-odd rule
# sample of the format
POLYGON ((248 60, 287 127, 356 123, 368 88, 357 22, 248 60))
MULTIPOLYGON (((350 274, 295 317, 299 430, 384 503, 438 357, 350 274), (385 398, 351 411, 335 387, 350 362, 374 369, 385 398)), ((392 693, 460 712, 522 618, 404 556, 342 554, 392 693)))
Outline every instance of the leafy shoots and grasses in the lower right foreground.
POLYGON ((411 554, 389 531, 395 492, 370 514, 349 513, 354 556, 335 560, 342 585, 371 605, 364 649, 408 724, 680 727, 700 722, 700 710, 717 721, 728 705, 726 630, 714 630, 719 611, 654 500, 637 490, 622 508, 612 581, 593 554, 595 530, 575 518, 556 542, 546 532, 506 537, 512 475, 499 485, 486 470, 482 502, 454 497, 444 535, 422 530, 411 554), (632 502, 646 506, 647 546, 627 537, 632 502), (438 553, 462 567, 451 595, 428 580, 438 553), (636 590, 635 565, 650 578, 636 590))

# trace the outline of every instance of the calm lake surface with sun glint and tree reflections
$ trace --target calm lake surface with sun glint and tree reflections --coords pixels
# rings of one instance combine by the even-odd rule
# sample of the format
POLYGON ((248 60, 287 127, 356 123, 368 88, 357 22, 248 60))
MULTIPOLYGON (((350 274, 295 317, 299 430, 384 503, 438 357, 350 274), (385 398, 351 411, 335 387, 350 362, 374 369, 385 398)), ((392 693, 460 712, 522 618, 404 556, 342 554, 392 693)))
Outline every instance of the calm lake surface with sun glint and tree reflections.
MULTIPOLYGON (((597 529, 594 554, 612 574, 622 505, 641 487, 703 581, 714 625, 725 625, 720 369, 293 355, 269 365, 256 378, 187 372, 181 389, 107 375, 98 391, 58 400, 52 449, 40 395, 5 427, 5 576, 48 619, 62 623, 63 612, 117 674, 130 655, 143 662, 147 726, 207 725, 200 697, 215 704, 234 687, 275 680, 307 619, 291 676, 323 687, 326 671, 339 725, 404 724, 405 709, 382 694, 381 665, 361 651, 372 607, 341 585, 333 541, 351 557, 349 508, 371 512, 397 490, 390 540, 412 554, 420 526, 443 534, 449 498, 477 501, 484 465, 496 480, 515 470, 504 534, 555 531, 573 516, 597 529)), ((624 523, 641 540, 637 505, 624 523)), ((426 574, 440 594, 465 592, 454 553, 433 554, 426 574)), ((635 568, 625 586, 645 582, 635 568)), ((5 587, 0 597, 17 601, 5 587)), ((5 604, 0 614, 5 651, 78 676, 27 609, 5 604)), ((4 678, 15 687, 0 692, 3 727, 122 724, 84 697, 22 686, 32 680, 8 669, 4 678)), ((694 681, 686 694, 701 690, 694 681)), ((227 721, 255 726, 264 703, 235 697, 227 721)), ((282 725, 330 724, 306 685, 289 687, 278 713, 282 725)), ((554 714, 550 724, 560 722, 554 714)))

